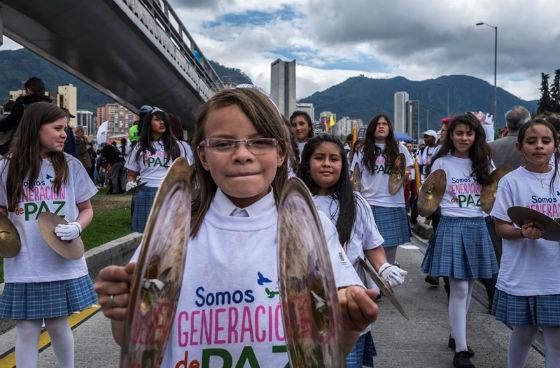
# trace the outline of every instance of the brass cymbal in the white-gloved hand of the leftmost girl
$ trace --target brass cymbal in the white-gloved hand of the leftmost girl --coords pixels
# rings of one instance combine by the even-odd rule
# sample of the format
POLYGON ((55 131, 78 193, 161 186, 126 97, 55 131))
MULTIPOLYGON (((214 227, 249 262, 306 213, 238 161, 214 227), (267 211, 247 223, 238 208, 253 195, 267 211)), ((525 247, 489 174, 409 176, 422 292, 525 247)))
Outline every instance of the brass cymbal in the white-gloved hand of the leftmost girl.
POLYGON ((65 219, 52 212, 43 212, 37 219, 41 237, 52 250, 66 259, 80 259, 84 255, 82 238, 60 240, 56 236, 54 228, 59 224, 67 224, 68 222, 65 219))

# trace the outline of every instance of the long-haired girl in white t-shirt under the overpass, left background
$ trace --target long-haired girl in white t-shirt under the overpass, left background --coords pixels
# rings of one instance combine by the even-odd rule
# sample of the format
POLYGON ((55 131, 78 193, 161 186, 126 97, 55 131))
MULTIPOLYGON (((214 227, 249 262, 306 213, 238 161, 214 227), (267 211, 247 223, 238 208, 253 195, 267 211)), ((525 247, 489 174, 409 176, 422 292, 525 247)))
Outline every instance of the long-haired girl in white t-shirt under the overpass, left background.
MULTIPOLYGON (((157 190, 177 157, 189 157, 190 149, 185 141, 177 140, 171 132, 169 115, 155 107, 146 114, 140 137, 128 155, 126 191, 138 186, 132 198, 132 231, 144 232, 148 215, 157 190)), ((189 161, 189 163, 191 163, 189 161)))

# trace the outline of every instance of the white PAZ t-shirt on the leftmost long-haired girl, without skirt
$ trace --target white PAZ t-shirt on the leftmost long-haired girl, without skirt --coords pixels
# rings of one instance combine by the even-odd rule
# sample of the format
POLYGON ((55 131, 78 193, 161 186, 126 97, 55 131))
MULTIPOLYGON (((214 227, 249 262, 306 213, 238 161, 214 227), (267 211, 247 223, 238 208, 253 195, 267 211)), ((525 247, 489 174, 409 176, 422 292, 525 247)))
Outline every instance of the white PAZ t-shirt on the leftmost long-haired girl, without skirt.
MULTIPOLYGON (((85 202, 97 193, 97 188, 84 166, 73 156, 64 154, 68 163, 68 183, 63 184, 57 194, 52 187, 54 168, 44 159, 33 190, 24 183, 24 197, 15 212, 8 218, 16 227, 21 240, 21 250, 13 258, 4 259, 6 282, 49 282, 70 280, 88 274, 84 257, 68 260, 53 251, 39 233, 37 216, 42 212, 53 212, 68 222, 78 218, 78 203, 85 202)), ((0 160, 0 206, 8 207, 6 180, 9 160, 0 160)))

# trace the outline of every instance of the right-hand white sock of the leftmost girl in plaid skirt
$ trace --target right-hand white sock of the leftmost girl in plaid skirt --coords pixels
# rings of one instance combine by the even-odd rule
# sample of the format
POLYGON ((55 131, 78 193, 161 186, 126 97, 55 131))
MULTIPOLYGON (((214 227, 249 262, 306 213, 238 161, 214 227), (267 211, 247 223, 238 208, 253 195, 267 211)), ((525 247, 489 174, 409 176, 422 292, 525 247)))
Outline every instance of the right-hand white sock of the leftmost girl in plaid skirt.
POLYGON ((60 368, 74 368, 74 336, 67 317, 45 319, 45 325, 60 368))

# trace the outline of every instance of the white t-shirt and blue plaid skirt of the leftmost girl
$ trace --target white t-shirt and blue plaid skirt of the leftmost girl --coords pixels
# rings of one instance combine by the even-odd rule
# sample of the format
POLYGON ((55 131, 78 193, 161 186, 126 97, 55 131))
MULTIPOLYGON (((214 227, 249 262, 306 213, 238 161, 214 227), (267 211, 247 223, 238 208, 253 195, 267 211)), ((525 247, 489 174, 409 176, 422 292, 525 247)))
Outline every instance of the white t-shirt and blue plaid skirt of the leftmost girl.
MULTIPOLYGON (((77 203, 89 200, 97 188, 80 161, 64 154, 68 182, 55 192, 54 168, 43 159, 35 183, 24 181, 24 195, 8 218, 16 227, 21 250, 4 261, 4 292, 0 297, 0 319, 35 320, 68 316, 93 305, 97 298, 84 257, 63 258, 53 251, 39 232, 37 217, 53 212, 68 222, 78 218, 77 203), (33 189, 31 189, 31 184, 33 189)), ((0 206, 8 207, 6 180, 9 160, 0 160, 0 206)))

